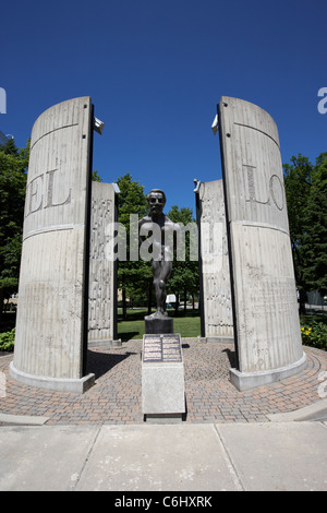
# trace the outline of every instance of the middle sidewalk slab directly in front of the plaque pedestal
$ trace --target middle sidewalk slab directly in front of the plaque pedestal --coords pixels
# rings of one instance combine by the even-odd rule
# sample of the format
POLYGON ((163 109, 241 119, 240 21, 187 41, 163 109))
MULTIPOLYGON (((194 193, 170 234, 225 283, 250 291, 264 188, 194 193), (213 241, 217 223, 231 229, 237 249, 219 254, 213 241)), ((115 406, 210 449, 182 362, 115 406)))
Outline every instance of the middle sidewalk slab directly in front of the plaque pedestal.
MULTIPOLYGON (((76 491, 239 490, 210 425, 104 426, 76 491)), ((166 505, 172 505, 167 499, 166 505)))

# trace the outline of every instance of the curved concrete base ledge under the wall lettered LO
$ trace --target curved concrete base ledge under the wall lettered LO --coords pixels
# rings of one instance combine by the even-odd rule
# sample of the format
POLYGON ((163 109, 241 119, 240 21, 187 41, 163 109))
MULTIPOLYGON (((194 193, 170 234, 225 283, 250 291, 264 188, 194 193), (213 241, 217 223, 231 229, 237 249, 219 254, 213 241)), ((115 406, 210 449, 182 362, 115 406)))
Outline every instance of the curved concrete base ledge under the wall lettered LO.
POLYGON ((303 353, 302 358, 294 363, 279 369, 271 369, 257 372, 240 372, 237 369, 230 369, 230 381, 241 392, 255 386, 266 385, 275 381, 284 380, 291 375, 298 374, 306 366, 306 355, 303 353))

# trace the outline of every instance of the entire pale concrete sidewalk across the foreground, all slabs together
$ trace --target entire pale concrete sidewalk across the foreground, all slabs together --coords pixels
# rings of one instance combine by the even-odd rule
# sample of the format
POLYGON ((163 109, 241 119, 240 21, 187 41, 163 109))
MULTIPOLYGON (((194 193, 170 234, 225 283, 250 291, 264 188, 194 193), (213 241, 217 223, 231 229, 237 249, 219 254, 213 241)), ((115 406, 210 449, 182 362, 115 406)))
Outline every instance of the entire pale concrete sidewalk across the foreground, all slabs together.
POLYGON ((326 491, 326 448, 325 421, 7 426, 0 490, 326 491))

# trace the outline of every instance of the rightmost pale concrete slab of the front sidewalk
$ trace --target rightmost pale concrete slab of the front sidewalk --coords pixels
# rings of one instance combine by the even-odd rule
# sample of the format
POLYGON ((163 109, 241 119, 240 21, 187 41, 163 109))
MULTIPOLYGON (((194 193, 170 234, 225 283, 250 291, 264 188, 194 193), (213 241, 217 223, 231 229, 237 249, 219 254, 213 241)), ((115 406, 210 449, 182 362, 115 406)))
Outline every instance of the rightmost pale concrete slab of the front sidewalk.
POLYGON ((323 423, 229 423, 218 430, 246 491, 326 491, 323 423))

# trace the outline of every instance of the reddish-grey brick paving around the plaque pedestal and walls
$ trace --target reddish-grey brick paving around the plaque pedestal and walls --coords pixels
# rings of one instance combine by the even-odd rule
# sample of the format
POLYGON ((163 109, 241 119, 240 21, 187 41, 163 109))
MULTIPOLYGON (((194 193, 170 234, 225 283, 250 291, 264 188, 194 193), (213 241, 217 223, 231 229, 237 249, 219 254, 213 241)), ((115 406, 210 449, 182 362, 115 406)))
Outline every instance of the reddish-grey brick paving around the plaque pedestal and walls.
MULTIPOLYGON (((0 358, 7 375, 0 413, 49 417, 47 425, 141 423, 142 341, 121 348, 88 351, 88 372, 96 384, 83 395, 26 386, 8 374, 12 356, 0 358)), ((268 421, 267 415, 286 413, 319 401, 319 374, 327 371, 327 353, 304 348, 307 366, 299 375, 278 383, 239 392, 229 381, 233 367, 231 344, 199 344, 183 339, 186 422, 268 421)))

